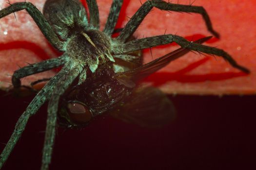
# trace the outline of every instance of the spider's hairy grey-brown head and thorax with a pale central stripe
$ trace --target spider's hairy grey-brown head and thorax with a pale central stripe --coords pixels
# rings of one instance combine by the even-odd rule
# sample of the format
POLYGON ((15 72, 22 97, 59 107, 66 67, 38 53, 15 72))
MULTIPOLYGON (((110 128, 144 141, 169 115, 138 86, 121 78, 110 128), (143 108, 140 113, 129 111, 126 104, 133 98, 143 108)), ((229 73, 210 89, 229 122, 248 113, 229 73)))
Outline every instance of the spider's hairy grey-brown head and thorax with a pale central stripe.
POLYGON ((68 56, 89 67, 94 73, 99 65, 115 62, 110 53, 110 38, 97 30, 71 36, 64 46, 68 56))

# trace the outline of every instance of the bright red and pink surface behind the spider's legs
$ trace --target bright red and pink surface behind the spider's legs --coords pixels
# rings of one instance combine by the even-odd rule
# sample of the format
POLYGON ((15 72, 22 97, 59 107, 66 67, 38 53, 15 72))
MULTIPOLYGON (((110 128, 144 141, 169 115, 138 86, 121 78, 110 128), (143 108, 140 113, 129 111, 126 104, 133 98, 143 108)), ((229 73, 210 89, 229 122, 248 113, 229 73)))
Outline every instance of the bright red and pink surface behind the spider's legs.
MULTIPOLYGON (((19 0, 11 2, 15 1, 19 0)), ((31 2, 36 2, 37 7, 42 9, 44 0, 31 0, 31 2)), ((187 4, 188 1, 180 0, 179 3, 187 4)), ((239 3, 239 8, 236 8, 237 3, 237 0, 221 0, 218 2, 197 0, 194 5, 204 6, 212 19, 214 28, 221 35, 221 39, 214 39, 205 44, 228 51, 239 64, 251 69, 252 73, 250 75, 242 74, 239 70, 231 68, 218 57, 209 57, 206 60, 204 56, 191 53, 171 63, 145 81, 153 83, 164 92, 173 94, 254 94, 256 91, 256 62, 254 57, 256 53, 254 48, 256 33, 253 30, 256 17, 253 15, 253 11, 256 2, 248 0, 239 3), (192 69, 192 67, 194 68, 192 69), (161 77, 161 79, 157 77, 161 77)), ((98 1, 102 26, 106 20, 110 4, 111 0, 98 1)), ((8 4, 2 6, 6 5, 8 4)), ((123 27, 127 22, 126 16, 131 17, 140 5, 138 0, 125 0, 117 27, 123 27)), ((3 65, 0 68, 2 72, 0 75, 2 84, 0 85, 3 87, 10 85, 6 83, 10 82, 10 76, 6 75, 11 75, 15 69, 18 69, 17 65, 22 67, 26 65, 25 62, 34 63, 59 55, 49 48, 49 44, 28 15, 17 12, 16 16, 17 21, 12 15, 0 20, 2 25, 0 31, 8 31, 7 35, 1 35, 3 38, 0 40, 0 64, 3 65)), ((143 35, 158 35, 163 34, 165 30, 167 30, 166 34, 178 34, 185 37, 194 36, 195 39, 198 35, 210 35, 199 15, 168 13, 158 9, 154 9, 145 18, 135 35, 138 38, 143 35)), ((176 47, 153 48, 153 59, 172 51, 176 47)), ((144 61, 148 62, 150 60, 152 60, 150 51, 145 50, 144 61)), ((54 75, 53 72, 47 72, 30 76, 25 78, 23 83, 27 84, 35 79, 52 75, 54 75)))

